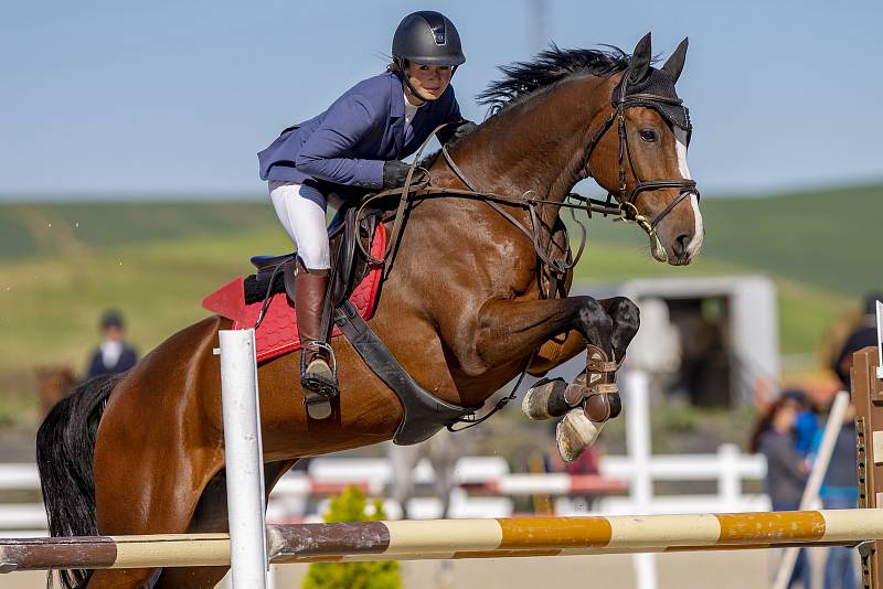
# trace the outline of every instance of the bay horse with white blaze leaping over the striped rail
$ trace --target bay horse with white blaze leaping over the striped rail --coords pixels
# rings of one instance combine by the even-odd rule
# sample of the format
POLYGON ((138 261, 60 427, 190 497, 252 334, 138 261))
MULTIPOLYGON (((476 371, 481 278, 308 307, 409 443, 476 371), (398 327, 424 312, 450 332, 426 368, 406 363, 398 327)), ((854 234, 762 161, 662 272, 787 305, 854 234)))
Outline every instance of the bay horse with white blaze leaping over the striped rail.
MULTIPOLYGON (((687 40, 657 68, 648 34, 632 55, 552 46, 504 67, 482 96, 496 113, 427 165, 433 186, 471 184, 538 202, 493 207, 482 199, 434 197, 408 210, 369 323, 425 389, 472 407, 525 368, 542 375, 587 346, 608 362, 623 358, 638 329, 637 307, 625 298, 542 299, 539 250, 522 229, 533 223, 547 251, 565 199, 592 176, 651 234, 655 257, 672 265, 693 259, 704 232, 685 165, 690 122, 674 93, 685 50, 687 40)), ((213 349, 219 330, 230 326, 220 317, 190 325, 128 373, 82 385, 46 417, 38 467, 53 536, 227 531, 213 349)), ((336 338, 332 347, 337 419, 308 418, 299 353, 259 366, 267 493, 299 458, 389 440, 402 419, 396 396, 350 343, 336 338)), ((208 588, 225 571, 76 570, 63 571, 62 582, 208 588)))

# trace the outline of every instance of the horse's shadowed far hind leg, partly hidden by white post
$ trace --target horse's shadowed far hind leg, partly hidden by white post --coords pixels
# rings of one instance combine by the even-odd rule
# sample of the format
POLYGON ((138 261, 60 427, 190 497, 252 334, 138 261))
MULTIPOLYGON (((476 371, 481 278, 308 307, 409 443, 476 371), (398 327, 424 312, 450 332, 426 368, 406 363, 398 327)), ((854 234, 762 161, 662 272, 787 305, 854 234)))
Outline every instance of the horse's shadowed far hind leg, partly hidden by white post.
MULTIPOLYGON (((295 465, 297 460, 286 460, 264 464, 264 499, 269 497, 269 492, 276 482, 295 465)), ((221 471, 215 474, 202 492, 200 502, 193 512, 190 523, 190 533, 228 532, 227 521, 227 493, 226 474, 221 471)), ((224 578, 230 567, 185 567, 163 569, 155 589, 210 589, 224 578)))

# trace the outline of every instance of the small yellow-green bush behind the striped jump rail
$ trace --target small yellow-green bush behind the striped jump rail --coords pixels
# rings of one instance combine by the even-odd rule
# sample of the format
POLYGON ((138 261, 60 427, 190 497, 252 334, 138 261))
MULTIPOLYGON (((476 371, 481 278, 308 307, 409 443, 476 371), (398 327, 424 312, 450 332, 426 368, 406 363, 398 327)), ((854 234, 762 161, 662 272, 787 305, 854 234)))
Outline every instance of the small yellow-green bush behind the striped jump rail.
MULTIPOLYGON (((386 515, 383 502, 374 499, 372 513, 364 493, 354 485, 331 497, 331 504, 323 515, 332 522, 376 522, 386 515)), ((313 563, 304 579, 302 589, 402 589, 402 574, 398 563, 313 563)))

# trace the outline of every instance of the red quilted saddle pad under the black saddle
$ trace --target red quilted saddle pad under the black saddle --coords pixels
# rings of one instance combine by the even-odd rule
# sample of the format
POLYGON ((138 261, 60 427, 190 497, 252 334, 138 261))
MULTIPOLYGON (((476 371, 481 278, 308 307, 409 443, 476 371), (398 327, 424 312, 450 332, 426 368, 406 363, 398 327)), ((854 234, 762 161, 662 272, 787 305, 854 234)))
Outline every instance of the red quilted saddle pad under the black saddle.
MULTIPOLYGON (((386 247, 386 229, 379 225, 371 244, 371 255, 375 258, 383 256, 386 247)), ((365 320, 374 314, 380 290, 381 267, 370 266, 368 275, 362 279, 350 300, 365 320)), ((202 301, 202 307, 221 317, 233 320, 233 329, 248 329, 257 321, 263 301, 245 304, 244 280, 242 277, 228 282, 212 292, 202 301)), ((340 330, 334 328, 331 336, 340 335, 340 330)), ((288 301, 285 292, 278 292, 270 298, 264 320, 255 332, 257 344, 257 361, 266 361, 300 350, 300 338, 297 332, 297 310, 288 301)))

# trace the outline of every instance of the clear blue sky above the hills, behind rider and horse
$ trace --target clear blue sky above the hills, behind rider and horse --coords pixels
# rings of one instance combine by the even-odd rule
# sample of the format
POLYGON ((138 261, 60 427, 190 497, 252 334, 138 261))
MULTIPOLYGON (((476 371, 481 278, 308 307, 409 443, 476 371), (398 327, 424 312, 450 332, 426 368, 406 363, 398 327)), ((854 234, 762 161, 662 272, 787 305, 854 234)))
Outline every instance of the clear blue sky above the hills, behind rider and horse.
POLYGON ((667 56, 690 38, 679 93, 706 193, 883 180, 883 2, 4 2, 0 201, 76 193, 264 194, 255 152, 381 72, 401 18, 457 24, 464 114, 496 66, 561 46, 667 56), (536 6, 545 4, 545 35, 536 6))

